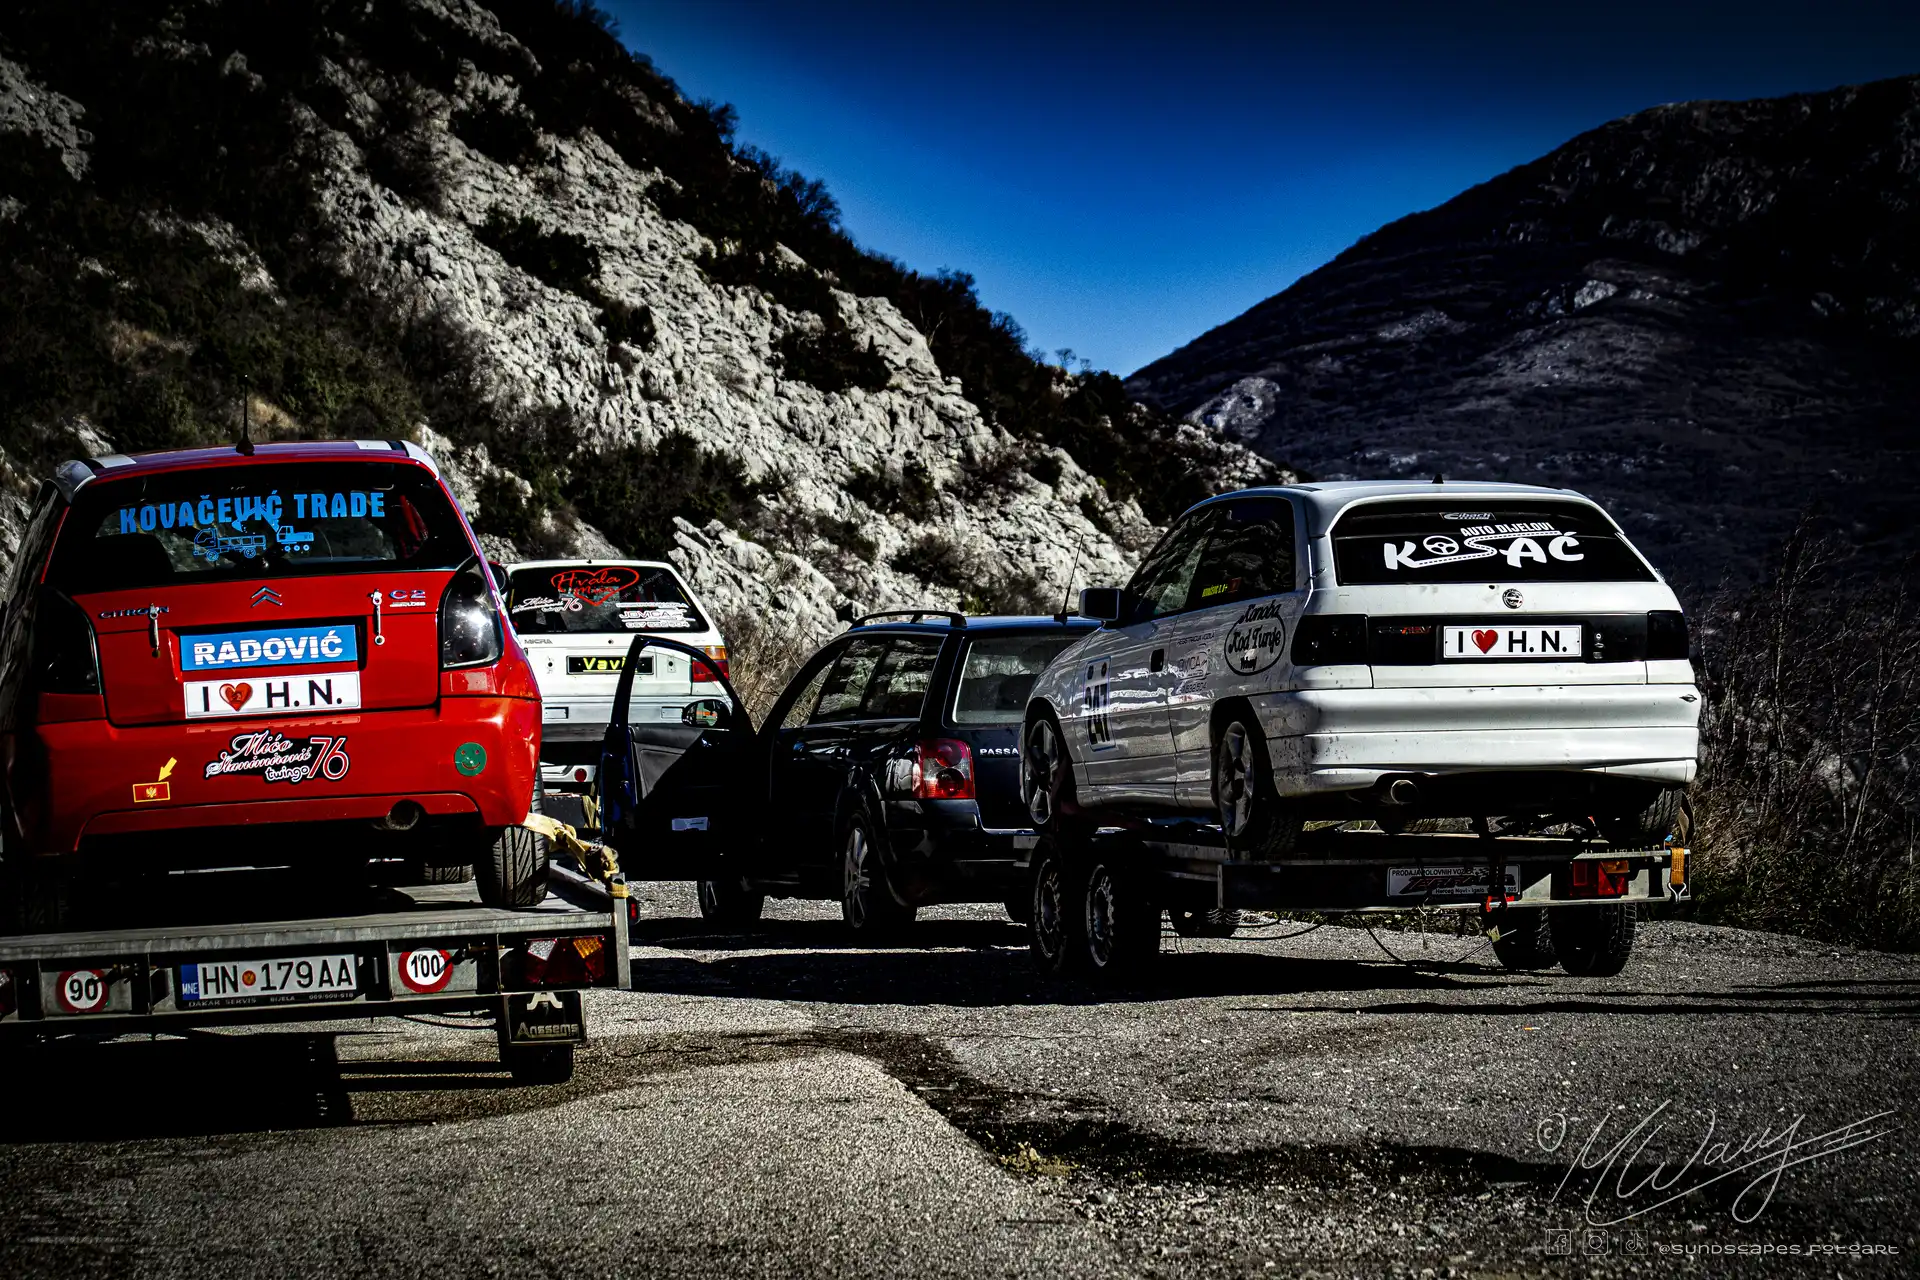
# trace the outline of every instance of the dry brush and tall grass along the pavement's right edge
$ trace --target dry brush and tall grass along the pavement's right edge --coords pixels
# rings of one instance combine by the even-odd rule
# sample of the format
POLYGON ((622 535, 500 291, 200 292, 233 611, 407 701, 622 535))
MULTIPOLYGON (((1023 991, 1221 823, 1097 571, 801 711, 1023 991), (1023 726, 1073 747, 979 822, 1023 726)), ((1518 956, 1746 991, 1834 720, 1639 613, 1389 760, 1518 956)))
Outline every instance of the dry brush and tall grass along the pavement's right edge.
POLYGON ((1695 620, 1699 913, 1920 948, 1920 608, 1803 522, 1772 581, 1695 620))

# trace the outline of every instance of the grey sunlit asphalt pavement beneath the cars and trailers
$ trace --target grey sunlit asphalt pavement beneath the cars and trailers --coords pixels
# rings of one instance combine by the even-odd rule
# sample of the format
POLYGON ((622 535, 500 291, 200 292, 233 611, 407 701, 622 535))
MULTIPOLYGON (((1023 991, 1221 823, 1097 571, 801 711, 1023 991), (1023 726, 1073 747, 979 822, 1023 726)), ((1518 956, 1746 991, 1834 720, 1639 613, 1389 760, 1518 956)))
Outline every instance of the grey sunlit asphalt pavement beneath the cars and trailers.
POLYGON ((564 1086, 459 1019, 10 1050, 0 1274, 1916 1272, 1914 958, 1275 921, 1091 990, 993 908, 641 902, 564 1086))

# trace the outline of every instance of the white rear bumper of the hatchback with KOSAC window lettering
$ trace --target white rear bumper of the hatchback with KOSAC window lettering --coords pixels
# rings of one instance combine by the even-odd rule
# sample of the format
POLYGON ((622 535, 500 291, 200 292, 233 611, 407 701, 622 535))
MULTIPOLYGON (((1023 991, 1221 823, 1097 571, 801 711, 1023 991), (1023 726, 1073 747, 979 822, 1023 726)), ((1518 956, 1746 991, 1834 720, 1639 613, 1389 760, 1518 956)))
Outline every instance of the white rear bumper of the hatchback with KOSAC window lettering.
POLYGON ((1699 756, 1692 685, 1325 689, 1260 702, 1275 785, 1296 796, 1528 770, 1684 785, 1699 756))

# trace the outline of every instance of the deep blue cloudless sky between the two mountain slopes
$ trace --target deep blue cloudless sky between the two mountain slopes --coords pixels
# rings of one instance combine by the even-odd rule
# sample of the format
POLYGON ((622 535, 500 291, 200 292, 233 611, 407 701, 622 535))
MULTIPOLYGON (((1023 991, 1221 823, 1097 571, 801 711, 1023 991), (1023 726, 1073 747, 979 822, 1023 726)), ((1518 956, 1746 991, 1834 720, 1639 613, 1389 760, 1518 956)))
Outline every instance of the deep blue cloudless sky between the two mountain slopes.
POLYGON ((1116 372, 1617 115, 1920 71, 1920 0, 601 4, 862 246, 1116 372))

